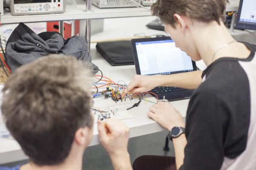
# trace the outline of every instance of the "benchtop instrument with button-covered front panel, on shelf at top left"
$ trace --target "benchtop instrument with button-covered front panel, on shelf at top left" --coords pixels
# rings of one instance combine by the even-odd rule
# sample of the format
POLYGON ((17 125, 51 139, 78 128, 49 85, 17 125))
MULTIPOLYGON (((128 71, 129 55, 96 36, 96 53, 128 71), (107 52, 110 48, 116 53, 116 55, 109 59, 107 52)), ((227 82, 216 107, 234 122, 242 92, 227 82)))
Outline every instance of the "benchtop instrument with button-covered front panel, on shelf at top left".
POLYGON ((10 0, 12 15, 64 13, 66 0, 10 0))

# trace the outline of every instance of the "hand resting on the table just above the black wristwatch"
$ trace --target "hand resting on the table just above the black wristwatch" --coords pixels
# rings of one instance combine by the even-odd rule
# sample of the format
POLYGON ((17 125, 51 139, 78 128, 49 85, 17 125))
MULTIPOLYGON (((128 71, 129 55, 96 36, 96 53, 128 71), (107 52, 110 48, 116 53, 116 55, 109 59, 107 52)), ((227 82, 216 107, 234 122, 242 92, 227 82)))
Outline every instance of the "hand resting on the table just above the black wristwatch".
POLYGON ((171 130, 174 126, 185 127, 182 116, 169 102, 157 102, 148 111, 148 117, 154 119, 164 128, 171 130))

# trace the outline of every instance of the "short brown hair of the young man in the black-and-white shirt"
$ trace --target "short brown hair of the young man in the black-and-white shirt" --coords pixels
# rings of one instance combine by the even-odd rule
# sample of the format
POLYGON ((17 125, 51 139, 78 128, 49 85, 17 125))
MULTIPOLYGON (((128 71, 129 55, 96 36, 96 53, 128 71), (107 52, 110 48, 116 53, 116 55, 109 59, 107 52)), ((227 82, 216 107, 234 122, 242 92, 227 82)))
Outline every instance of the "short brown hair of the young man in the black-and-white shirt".
POLYGON ((175 28, 174 14, 190 17, 204 23, 225 20, 228 0, 157 0, 151 6, 152 14, 160 17, 163 23, 175 28))

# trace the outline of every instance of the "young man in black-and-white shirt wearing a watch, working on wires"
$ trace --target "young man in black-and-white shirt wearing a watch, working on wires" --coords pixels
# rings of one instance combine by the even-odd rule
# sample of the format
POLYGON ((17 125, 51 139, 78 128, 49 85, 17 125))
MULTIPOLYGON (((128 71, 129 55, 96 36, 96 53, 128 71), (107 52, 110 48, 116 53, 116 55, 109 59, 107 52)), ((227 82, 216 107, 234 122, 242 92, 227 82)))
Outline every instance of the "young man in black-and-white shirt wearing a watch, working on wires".
POLYGON ((169 102, 149 108, 148 116, 169 130, 175 158, 141 156, 134 170, 255 170, 256 169, 256 46, 237 42, 223 19, 227 0, 157 0, 151 7, 177 47, 203 72, 135 75, 130 93, 157 86, 197 88, 186 114, 169 102), (202 77, 202 78, 201 78, 202 77), (174 164, 176 162, 176 166, 174 164))

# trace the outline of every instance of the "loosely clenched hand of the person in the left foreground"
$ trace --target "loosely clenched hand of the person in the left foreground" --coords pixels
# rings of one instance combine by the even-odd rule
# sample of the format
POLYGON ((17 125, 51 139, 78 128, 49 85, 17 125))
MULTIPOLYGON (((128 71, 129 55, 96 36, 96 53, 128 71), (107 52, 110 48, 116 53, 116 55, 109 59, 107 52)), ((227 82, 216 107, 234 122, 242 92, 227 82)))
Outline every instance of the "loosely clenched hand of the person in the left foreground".
POLYGON ((98 120, 99 140, 109 156, 127 154, 129 127, 118 119, 98 120))

